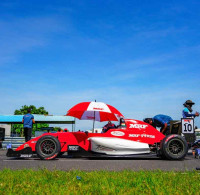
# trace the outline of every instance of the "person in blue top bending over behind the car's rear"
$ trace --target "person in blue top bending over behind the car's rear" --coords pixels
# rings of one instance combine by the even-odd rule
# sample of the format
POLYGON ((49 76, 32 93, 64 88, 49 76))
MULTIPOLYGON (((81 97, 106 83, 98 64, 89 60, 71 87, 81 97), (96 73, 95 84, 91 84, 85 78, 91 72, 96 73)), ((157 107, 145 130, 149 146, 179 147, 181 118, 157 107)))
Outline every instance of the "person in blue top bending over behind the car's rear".
POLYGON ((173 119, 168 115, 158 114, 153 118, 145 118, 144 122, 152 125, 153 127, 160 127, 160 132, 164 135, 170 134, 170 121, 173 119))

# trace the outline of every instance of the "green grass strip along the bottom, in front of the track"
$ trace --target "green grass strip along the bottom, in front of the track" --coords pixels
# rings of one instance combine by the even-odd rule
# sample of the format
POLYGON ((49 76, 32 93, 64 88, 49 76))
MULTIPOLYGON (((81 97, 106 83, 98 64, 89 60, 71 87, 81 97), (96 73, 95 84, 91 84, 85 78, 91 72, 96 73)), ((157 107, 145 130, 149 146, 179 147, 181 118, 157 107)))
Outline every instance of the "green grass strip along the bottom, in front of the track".
POLYGON ((0 171, 0 194, 200 194, 197 171, 0 171))

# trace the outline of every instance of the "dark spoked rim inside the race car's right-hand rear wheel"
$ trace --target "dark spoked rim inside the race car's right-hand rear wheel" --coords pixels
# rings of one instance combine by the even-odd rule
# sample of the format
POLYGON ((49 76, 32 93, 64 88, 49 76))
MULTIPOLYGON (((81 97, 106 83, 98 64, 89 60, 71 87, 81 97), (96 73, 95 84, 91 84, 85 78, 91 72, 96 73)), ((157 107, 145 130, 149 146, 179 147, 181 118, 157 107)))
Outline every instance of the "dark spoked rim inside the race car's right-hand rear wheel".
POLYGON ((168 151, 172 155, 180 156, 184 152, 184 143, 179 139, 172 139, 168 143, 168 151))

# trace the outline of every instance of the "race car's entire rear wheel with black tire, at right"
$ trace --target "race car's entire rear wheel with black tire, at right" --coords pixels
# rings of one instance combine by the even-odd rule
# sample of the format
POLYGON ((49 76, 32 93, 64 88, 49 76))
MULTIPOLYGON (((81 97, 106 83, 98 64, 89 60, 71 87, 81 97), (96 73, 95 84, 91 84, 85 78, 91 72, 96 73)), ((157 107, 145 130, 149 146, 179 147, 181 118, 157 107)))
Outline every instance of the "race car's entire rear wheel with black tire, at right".
POLYGON ((161 143, 161 157, 169 160, 182 160, 188 152, 188 145, 180 135, 168 135, 161 143))

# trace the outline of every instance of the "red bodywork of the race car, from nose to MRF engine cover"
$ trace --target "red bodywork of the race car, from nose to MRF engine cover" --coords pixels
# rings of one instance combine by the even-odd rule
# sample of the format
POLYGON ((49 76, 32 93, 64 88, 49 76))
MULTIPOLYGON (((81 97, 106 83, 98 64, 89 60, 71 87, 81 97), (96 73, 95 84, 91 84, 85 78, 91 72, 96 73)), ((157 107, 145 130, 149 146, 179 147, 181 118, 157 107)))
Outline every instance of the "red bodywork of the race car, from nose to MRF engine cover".
MULTIPOLYGON (((61 144, 61 152, 66 152, 68 145, 79 145, 86 151, 90 151, 90 137, 113 137, 126 140, 132 140, 147 144, 159 143, 164 139, 164 135, 151 125, 143 121, 134 119, 125 119, 126 128, 110 129, 106 133, 84 133, 84 132, 59 132, 59 133, 45 133, 45 135, 52 135, 58 138, 61 144)), ((25 144, 19 146, 16 151, 20 151, 29 146, 35 152, 37 141, 42 137, 36 137, 25 144), (28 145, 27 145, 28 144, 28 145)))

